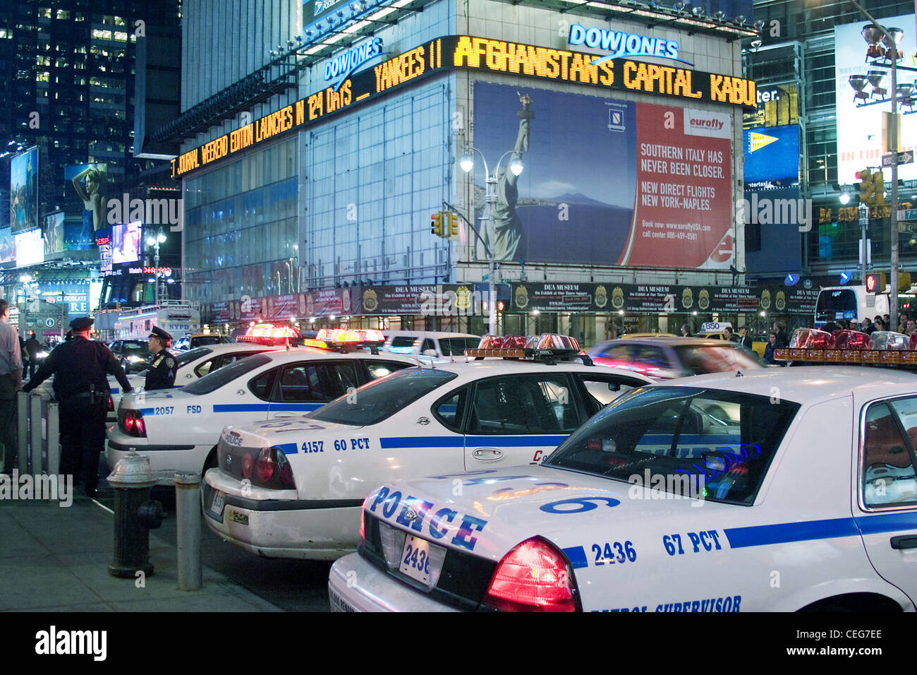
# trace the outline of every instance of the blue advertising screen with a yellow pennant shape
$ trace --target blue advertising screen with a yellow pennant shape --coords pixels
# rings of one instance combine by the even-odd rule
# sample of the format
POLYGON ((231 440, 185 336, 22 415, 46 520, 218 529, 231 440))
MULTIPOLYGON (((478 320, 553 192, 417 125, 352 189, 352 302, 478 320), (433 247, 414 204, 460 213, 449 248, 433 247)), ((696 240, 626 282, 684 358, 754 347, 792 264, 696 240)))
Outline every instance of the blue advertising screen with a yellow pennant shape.
POLYGON ((800 128, 745 129, 745 182, 747 188, 789 187, 800 182, 800 128))

